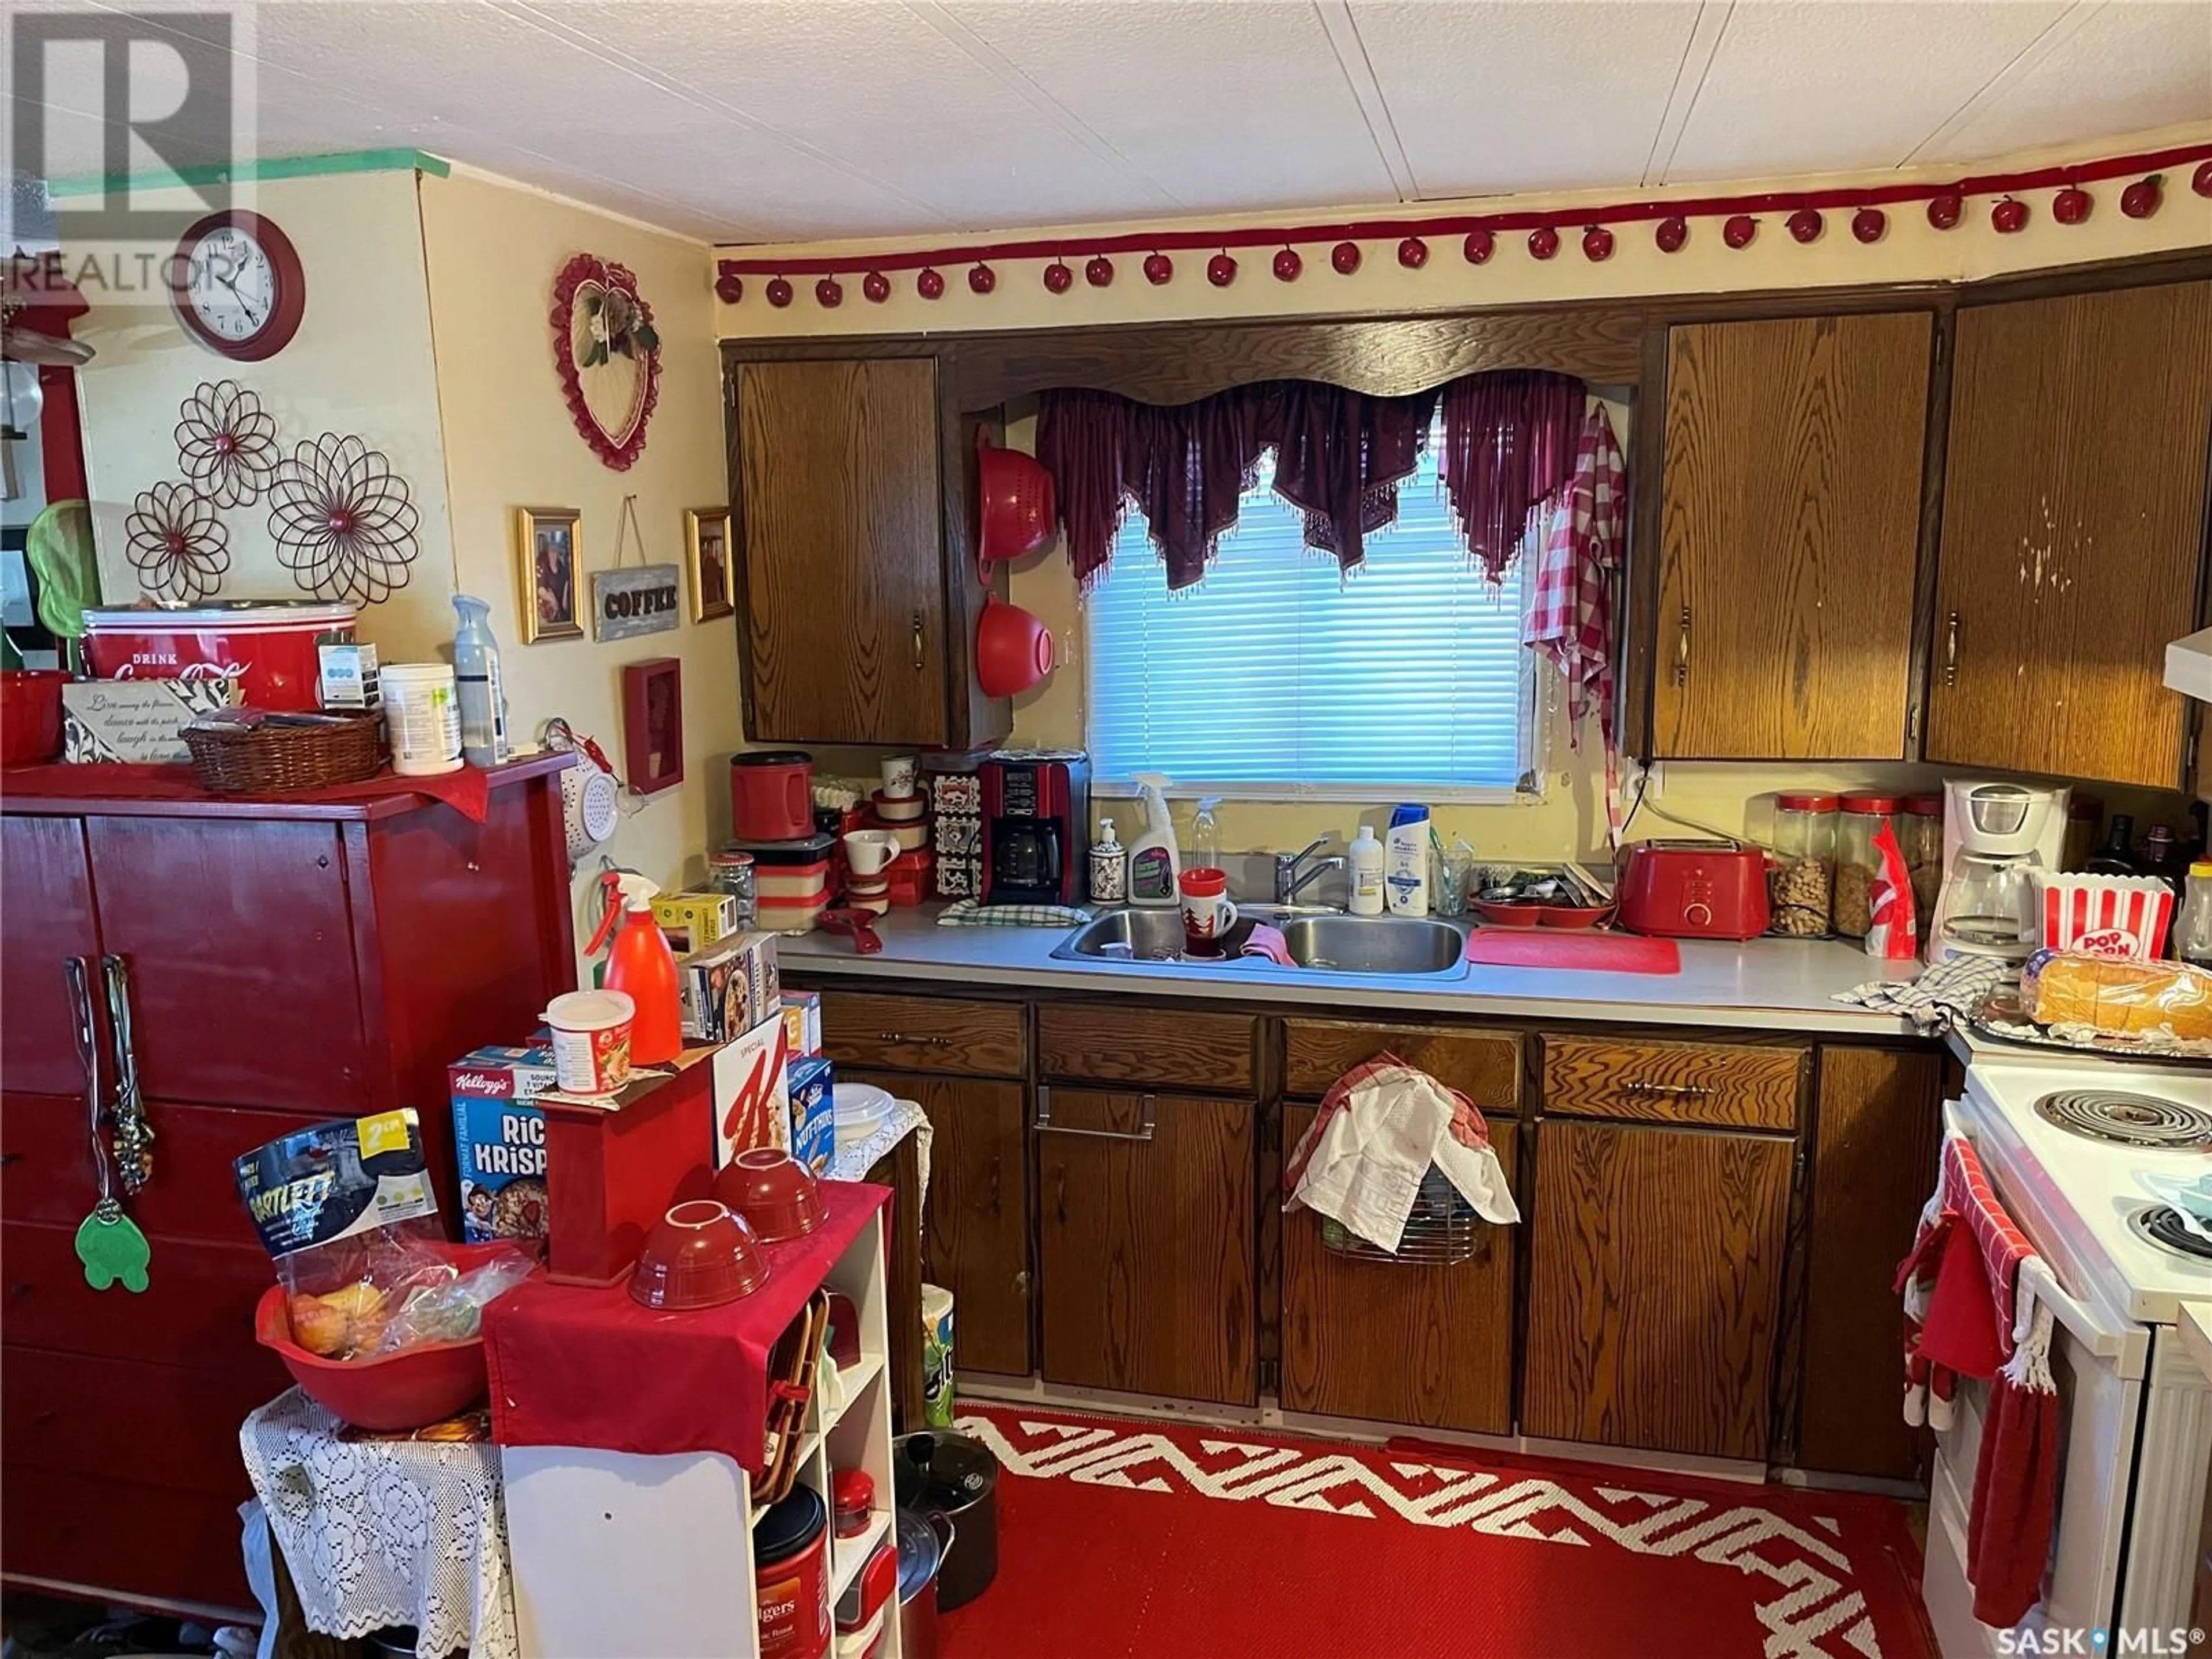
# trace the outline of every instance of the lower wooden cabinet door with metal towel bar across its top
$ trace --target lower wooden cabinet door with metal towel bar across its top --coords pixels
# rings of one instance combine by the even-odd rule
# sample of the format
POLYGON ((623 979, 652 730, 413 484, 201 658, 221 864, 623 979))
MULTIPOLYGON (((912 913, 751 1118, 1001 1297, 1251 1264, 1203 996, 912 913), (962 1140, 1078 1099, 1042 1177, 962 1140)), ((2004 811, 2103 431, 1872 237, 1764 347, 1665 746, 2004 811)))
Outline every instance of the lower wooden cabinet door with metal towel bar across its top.
POLYGON ((1040 1088, 1044 1378, 1254 1405, 1250 1099, 1040 1088))

